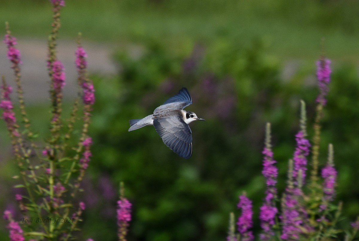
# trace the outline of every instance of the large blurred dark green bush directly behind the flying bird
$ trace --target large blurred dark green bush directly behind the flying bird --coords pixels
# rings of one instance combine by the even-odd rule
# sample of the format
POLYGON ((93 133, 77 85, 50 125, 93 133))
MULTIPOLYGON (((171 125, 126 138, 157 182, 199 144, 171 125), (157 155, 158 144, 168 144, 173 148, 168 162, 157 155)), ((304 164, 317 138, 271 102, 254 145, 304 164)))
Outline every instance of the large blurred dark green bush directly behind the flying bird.
MULTIPOLYGON (((143 42, 141 55, 116 55, 121 66, 117 78, 95 77, 97 101, 90 128, 94 139, 90 170, 95 175, 107 173, 113 183, 124 181, 126 196, 134 203, 130 240, 223 239, 229 212, 236 210, 242 191, 253 200, 258 231, 265 190, 261 176, 265 123, 272 123, 282 191, 299 129, 300 99, 307 103, 312 135, 318 94, 315 63, 311 69, 286 66, 291 73, 284 79, 283 66, 267 54, 260 38, 243 48, 225 38, 208 47, 186 46, 184 52, 193 47, 186 58, 176 54, 180 50, 171 52, 154 40, 143 42), (194 151, 189 160, 169 150, 153 127, 127 132, 129 119, 150 114, 182 86, 193 98, 187 109, 206 119, 191 124, 194 151)), ((337 199, 344 201, 347 217, 341 225, 359 214, 359 181, 354 178, 358 168, 354 150, 359 145, 353 131, 358 115, 353 104, 358 99, 356 73, 354 66, 336 68, 322 123, 320 161, 326 163, 327 145, 333 143, 339 170, 337 199)))

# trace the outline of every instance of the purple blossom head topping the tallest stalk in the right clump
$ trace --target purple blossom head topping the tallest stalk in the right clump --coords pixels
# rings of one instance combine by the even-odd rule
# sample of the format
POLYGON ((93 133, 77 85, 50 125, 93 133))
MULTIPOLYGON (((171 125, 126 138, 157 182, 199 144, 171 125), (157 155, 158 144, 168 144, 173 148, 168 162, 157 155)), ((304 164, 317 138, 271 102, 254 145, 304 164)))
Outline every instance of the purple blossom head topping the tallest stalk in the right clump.
POLYGON ((318 79, 318 87, 320 90, 320 94, 317 97, 317 102, 325 105, 327 100, 325 96, 328 94, 329 91, 329 83, 330 83, 330 60, 322 58, 321 60, 317 61, 317 79, 318 79))

